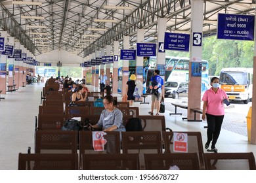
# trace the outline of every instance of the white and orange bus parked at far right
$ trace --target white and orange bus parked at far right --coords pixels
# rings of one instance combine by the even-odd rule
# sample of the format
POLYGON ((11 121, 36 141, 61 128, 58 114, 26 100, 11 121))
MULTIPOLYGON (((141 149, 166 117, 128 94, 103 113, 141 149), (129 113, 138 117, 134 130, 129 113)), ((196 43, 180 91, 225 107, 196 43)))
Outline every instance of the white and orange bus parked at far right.
POLYGON ((221 69, 220 84, 230 101, 243 101, 247 104, 253 97, 253 69, 221 69))

